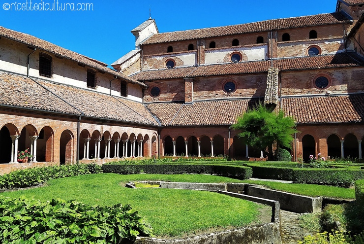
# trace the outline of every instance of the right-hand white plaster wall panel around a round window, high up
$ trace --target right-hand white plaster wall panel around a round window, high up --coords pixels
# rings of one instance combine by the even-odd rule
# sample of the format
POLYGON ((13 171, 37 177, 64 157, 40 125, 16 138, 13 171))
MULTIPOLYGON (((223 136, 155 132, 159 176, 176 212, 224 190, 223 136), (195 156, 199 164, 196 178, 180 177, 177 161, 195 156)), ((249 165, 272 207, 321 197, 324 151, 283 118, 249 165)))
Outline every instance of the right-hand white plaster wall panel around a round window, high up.
MULTIPOLYGON (((235 51, 241 51, 246 54, 248 60, 265 60, 267 59, 267 45, 258 46, 258 47, 241 47, 241 48, 227 48, 227 49, 215 49, 215 50, 205 50, 205 64, 217 64, 217 63, 226 63, 224 58, 226 55, 229 55, 235 51)), ((230 60, 227 61, 230 63, 230 60)))

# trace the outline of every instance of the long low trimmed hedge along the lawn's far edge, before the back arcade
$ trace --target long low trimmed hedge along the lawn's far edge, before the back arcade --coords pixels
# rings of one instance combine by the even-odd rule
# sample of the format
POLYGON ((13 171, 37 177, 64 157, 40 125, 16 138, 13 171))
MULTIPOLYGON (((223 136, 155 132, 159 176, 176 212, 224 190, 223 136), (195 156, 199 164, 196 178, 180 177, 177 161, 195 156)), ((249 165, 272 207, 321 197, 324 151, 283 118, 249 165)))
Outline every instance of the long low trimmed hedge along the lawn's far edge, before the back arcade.
POLYGON ((104 164, 102 169, 116 174, 214 174, 238 179, 252 175, 249 167, 217 164, 104 164))

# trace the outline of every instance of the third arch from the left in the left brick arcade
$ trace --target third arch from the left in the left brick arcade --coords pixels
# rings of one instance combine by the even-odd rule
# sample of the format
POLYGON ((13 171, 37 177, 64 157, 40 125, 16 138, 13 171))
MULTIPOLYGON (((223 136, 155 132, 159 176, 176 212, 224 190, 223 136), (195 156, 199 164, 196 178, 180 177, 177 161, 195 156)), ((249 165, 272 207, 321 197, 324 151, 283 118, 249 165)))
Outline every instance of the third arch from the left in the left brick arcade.
POLYGON ((54 131, 51 127, 43 127, 37 139, 36 160, 38 162, 53 162, 54 158, 54 131))

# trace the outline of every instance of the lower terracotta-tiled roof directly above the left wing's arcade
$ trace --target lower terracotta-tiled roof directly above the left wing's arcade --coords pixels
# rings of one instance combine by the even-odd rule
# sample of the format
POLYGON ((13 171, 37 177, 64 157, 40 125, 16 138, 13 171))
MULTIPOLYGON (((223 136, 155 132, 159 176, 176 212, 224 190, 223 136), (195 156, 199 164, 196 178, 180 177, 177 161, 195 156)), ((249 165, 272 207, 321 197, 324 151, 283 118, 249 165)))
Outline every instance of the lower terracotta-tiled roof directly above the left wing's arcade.
POLYGON ((0 105, 158 125, 141 103, 44 80, 0 72, 0 105))

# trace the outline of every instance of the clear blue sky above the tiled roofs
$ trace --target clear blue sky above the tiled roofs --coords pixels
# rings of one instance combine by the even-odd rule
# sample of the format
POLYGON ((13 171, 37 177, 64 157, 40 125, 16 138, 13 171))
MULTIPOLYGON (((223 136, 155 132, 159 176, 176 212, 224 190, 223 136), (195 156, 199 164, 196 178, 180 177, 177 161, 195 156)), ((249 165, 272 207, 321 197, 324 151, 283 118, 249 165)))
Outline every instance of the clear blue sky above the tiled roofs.
POLYGON ((335 11, 336 0, 0 0, 0 26, 107 64, 134 49, 130 31, 149 18, 159 32, 225 26, 335 11), (22 7, 28 1, 28 10, 22 7), (59 9, 52 9, 58 1, 59 9), (41 3, 43 2, 43 5, 41 3), (17 5, 15 5, 15 3, 17 5), (91 11, 71 11, 92 3, 91 11), (79 3, 77 5, 77 3, 79 3), (46 10, 36 10, 35 5, 46 10), (11 9, 10 9, 11 8, 11 9))

